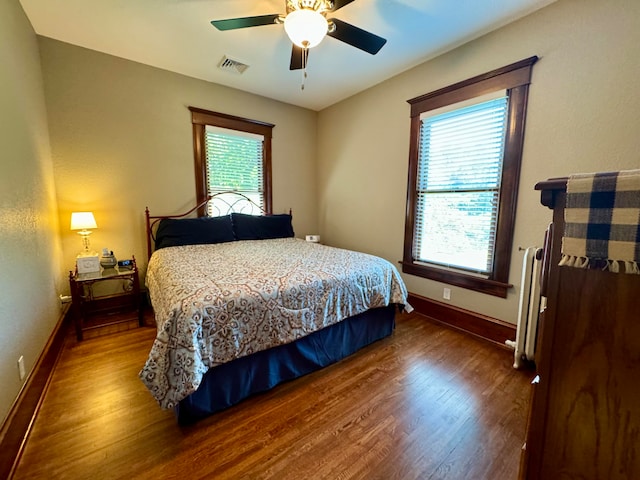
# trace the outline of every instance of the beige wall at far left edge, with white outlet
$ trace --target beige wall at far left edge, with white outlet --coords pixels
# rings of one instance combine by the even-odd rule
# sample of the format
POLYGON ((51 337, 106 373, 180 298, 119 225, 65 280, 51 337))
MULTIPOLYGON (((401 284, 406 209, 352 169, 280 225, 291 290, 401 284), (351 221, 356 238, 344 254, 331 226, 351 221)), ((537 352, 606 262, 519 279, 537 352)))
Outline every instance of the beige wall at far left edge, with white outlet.
POLYGON ((64 283, 38 44, 18 0, 0 2, 0 422, 61 313, 64 283))

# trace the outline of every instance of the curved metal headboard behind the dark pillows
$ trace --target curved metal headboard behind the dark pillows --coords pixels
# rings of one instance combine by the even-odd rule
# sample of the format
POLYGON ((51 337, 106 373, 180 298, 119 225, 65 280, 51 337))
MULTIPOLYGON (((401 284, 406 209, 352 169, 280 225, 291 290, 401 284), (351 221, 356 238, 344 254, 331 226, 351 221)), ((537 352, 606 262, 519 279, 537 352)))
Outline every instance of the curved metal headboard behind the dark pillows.
MULTIPOLYGON (((146 231, 147 231, 147 260, 153 253, 152 247, 155 245, 155 230, 161 220, 165 218, 184 218, 198 212, 198 216, 218 217, 230 213, 246 213, 250 215, 266 215, 267 212, 247 195, 236 192, 218 192, 208 196, 205 200, 193 207, 191 210, 177 215, 150 215, 149 207, 145 208, 146 231)), ((291 210, 289 210, 291 214, 291 210)))

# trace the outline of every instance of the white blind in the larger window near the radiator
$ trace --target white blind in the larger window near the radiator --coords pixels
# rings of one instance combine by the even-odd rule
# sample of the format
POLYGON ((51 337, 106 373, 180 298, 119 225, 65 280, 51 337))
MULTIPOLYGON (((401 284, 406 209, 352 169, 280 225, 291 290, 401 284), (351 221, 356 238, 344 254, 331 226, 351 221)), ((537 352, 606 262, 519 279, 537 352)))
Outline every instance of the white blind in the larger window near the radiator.
MULTIPOLYGON (((416 261, 492 271, 508 97, 421 118, 416 261)), ((477 101, 477 99, 476 99, 477 101)))

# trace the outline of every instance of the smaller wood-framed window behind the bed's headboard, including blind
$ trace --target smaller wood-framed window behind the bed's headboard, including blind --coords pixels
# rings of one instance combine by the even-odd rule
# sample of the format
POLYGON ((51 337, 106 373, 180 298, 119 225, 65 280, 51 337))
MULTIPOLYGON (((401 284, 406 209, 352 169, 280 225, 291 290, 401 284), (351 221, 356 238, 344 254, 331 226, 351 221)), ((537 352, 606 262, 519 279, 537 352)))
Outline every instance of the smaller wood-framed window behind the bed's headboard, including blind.
MULTIPOLYGON (((271 132, 273 125, 209 112, 194 107, 193 123, 196 196, 233 190, 271 213, 271 132)), ((199 215, 220 214, 216 204, 199 215)), ((226 212, 224 212, 226 213, 226 212)), ((246 213, 262 213, 257 209, 246 213)))

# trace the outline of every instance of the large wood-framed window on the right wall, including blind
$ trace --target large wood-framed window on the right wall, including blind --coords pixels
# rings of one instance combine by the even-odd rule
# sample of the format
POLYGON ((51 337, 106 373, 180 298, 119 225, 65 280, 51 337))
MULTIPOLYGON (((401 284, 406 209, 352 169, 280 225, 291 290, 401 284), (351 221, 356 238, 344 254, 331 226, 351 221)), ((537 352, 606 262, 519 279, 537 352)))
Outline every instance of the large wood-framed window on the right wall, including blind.
POLYGON ((531 57, 409 100, 403 271, 507 296, 531 57))

